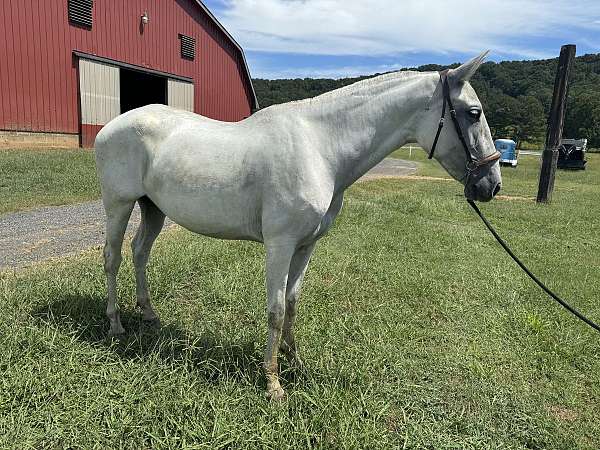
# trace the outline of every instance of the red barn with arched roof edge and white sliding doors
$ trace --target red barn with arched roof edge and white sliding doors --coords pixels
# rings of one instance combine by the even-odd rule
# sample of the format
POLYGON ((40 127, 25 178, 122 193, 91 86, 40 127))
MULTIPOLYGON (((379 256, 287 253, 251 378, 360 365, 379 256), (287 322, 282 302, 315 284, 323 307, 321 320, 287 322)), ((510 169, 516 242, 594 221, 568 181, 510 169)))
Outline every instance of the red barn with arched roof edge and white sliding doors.
POLYGON ((242 48, 199 0, 2 0, 0 147, 90 146, 149 103, 238 121, 242 48))

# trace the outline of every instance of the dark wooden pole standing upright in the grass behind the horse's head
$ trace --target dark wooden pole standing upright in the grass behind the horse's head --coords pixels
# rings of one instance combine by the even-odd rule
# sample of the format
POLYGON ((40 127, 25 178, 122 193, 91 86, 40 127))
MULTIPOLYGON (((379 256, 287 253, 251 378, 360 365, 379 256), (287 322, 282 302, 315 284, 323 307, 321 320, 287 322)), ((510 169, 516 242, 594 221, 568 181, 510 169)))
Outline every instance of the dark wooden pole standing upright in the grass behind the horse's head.
POLYGON ((540 171, 537 196, 538 203, 549 203, 552 200, 554 175, 556 173, 556 162, 558 161, 558 147, 560 146, 565 120, 569 75, 574 60, 575 46, 563 45, 560 48, 558 70, 556 71, 556 79, 554 80, 554 95, 552 96, 550 117, 548 117, 546 145, 542 152, 542 170, 540 171))

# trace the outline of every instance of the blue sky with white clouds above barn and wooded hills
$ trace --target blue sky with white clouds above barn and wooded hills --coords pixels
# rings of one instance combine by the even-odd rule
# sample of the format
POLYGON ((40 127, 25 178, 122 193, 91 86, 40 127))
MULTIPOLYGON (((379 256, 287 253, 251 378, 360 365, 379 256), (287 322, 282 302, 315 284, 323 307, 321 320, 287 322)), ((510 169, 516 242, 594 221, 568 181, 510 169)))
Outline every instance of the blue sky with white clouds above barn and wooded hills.
POLYGON ((422 64, 600 53, 600 0, 204 0, 253 77, 339 78, 422 64))

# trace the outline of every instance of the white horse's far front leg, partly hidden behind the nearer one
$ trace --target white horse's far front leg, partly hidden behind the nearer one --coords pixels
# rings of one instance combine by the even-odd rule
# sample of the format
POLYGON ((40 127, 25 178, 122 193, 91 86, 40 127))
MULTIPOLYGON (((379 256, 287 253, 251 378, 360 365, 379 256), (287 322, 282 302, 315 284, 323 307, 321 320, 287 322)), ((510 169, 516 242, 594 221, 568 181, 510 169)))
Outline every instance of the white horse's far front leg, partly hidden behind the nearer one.
POLYGON ((285 294, 285 319, 283 321, 283 338, 280 349, 296 365, 302 366, 302 360, 298 356, 296 338, 294 336, 294 323, 298 313, 298 300, 300 299, 300 290, 310 257, 315 249, 316 242, 299 248, 292 257, 290 272, 285 294))

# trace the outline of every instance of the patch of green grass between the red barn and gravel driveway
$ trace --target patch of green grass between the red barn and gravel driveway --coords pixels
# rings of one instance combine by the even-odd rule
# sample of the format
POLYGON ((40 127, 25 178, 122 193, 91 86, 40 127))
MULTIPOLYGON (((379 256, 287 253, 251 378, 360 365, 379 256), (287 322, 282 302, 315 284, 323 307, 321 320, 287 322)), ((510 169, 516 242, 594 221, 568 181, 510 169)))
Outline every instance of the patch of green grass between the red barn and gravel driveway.
POLYGON ((96 198, 93 152, 0 150, 0 214, 96 198))

